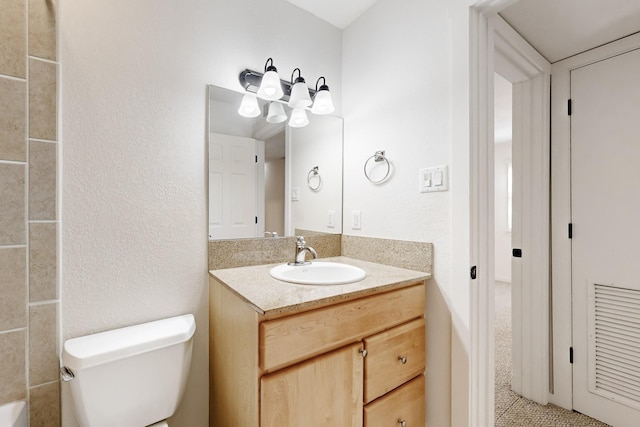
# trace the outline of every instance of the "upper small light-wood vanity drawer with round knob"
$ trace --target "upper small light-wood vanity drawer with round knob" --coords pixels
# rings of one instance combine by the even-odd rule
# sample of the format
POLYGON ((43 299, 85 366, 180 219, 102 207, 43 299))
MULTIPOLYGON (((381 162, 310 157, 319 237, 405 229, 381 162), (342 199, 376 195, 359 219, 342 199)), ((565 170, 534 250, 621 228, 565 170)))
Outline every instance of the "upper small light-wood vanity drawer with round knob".
POLYGON ((424 372, 424 318, 364 339, 364 402, 368 403, 424 372))

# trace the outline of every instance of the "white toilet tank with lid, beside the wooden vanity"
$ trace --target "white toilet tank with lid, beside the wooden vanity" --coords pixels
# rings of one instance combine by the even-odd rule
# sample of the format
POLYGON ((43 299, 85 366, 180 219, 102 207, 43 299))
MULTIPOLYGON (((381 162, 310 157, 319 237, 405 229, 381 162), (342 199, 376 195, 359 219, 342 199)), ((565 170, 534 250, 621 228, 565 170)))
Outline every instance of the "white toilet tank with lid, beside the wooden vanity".
POLYGON ((62 379, 80 425, 168 426, 184 394, 195 330, 186 314, 66 341, 62 379))

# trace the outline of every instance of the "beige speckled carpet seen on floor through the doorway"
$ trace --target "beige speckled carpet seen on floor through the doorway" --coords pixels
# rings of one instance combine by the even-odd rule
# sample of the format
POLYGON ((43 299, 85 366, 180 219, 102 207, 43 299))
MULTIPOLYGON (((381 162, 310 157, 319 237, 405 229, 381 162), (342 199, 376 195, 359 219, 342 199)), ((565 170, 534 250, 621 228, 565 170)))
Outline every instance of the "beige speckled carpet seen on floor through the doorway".
POLYGON ((607 424, 555 405, 542 406, 511 391, 511 285, 495 287, 496 427, 607 427, 607 424))

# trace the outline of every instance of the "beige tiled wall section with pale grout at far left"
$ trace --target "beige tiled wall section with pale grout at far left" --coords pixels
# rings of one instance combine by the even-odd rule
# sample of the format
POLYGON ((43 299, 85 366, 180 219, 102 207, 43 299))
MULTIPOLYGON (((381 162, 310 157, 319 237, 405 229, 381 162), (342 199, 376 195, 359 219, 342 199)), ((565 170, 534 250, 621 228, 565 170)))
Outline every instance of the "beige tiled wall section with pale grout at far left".
POLYGON ((60 426, 56 2, 0 0, 0 405, 60 426))

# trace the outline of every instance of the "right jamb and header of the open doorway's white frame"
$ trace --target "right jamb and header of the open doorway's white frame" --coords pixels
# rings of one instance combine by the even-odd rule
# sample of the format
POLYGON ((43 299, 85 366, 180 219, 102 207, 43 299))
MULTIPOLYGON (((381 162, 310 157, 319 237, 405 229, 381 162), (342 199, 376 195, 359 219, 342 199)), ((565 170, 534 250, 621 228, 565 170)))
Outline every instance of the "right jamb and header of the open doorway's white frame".
POLYGON ((546 404, 552 384, 548 363, 551 64, 502 18, 494 16, 490 23, 495 34, 495 69, 513 84, 512 245, 522 249, 523 255, 512 258, 516 285, 512 287, 512 389, 546 404))

